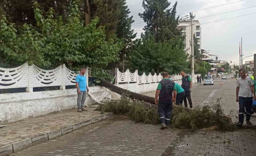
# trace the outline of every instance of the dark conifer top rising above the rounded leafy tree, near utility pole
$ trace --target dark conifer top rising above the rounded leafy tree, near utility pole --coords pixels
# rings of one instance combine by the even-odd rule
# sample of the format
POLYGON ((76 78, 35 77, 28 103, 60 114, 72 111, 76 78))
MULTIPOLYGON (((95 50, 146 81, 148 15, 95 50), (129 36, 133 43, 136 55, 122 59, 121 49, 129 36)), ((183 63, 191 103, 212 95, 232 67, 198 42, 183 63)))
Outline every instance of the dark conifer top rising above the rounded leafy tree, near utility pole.
POLYGON ((177 29, 179 16, 176 17, 177 2, 173 8, 168 9, 170 2, 168 0, 143 0, 145 11, 139 13, 146 26, 145 34, 148 33, 155 37, 156 42, 169 40, 174 36, 180 36, 180 30, 177 29))

